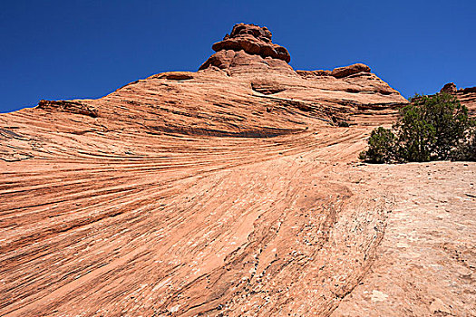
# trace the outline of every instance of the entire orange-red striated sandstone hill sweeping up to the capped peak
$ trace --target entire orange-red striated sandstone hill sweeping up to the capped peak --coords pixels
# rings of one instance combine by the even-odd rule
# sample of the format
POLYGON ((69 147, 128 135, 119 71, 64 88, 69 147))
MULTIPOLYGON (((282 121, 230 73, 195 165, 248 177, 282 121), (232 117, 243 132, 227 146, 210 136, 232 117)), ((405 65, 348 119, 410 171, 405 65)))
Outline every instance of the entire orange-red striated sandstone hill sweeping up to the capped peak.
MULTIPOLYGON (((275 47, 267 29, 239 25, 224 42, 275 47)), ((433 235, 432 219, 422 231, 411 221, 398 226, 398 217, 388 222, 395 199, 411 210, 408 195, 433 191, 424 171, 412 178, 422 190, 393 191, 412 170, 355 163, 370 131, 391 124, 407 101, 366 66, 295 72, 285 55, 257 52, 227 47, 199 72, 164 72, 97 100, 41 101, 0 115, 0 315, 400 313, 390 301, 403 295, 374 287, 379 275, 369 272, 393 264, 387 255, 375 261, 398 230, 412 235, 402 247, 420 248, 420 235, 433 235), (396 232, 384 240, 387 226, 396 232), (354 290, 361 293, 348 297, 354 290)), ((432 173, 440 179, 448 170, 432 173)), ((474 248, 473 230, 460 234, 458 223, 474 224, 462 196, 472 195, 473 171, 471 163, 452 169, 460 183, 438 183, 436 198, 452 197, 454 208, 435 219, 457 219, 451 253, 474 248)), ((424 256, 448 272, 432 276, 458 283, 440 283, 442 295, 425 293, 413 312, 471 315, 462 301, 474 303, 474 294, 458 294, 474 266, 424 256)), ((401 276, 427 283, 431 271, 423 278, 395 265, 385 285, 401 276)))

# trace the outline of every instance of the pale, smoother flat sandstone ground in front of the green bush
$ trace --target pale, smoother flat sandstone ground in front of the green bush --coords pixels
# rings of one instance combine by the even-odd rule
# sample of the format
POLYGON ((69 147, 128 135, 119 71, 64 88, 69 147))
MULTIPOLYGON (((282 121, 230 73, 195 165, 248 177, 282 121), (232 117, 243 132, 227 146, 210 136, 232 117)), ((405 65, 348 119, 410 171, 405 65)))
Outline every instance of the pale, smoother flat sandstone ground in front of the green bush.
POLYGON ((393 207, 374 264, 331 316, 475 316, 476 163, 369 165, 347 173, 357 187, 392 197, 393 207))

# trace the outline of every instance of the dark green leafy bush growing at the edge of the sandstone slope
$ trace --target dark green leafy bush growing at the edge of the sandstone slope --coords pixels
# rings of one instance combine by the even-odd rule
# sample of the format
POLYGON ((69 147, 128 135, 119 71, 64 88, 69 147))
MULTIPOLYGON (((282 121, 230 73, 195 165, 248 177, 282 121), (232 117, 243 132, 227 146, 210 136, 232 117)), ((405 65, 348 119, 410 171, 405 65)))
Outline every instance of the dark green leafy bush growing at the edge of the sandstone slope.
POLYGON ((392 130, 379 127, 359 158, 372 163, 476 160, 476 128, 452 95, 415 95, 392 130))

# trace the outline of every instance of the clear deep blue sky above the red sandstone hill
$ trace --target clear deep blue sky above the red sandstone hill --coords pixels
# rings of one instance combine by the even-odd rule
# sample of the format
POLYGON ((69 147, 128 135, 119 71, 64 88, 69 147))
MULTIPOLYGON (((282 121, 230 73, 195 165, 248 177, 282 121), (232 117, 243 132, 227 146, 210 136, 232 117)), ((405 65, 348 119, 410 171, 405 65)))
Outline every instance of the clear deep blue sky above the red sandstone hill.
POLYGON ((405 97, 476 86, 475 0, 0 1, 0 112, 196 71, 239 22, 266 25, 295 69, 364 62, 405 97))

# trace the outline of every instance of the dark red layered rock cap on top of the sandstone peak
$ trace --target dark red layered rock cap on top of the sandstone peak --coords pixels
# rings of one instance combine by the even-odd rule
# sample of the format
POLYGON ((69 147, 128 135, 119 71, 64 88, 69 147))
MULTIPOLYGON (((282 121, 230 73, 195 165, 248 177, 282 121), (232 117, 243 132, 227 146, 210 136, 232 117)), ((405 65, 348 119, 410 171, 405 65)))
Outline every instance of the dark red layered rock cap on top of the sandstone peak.
POLYGON ((235 24, 231 34, 225 35, 223 41, 214 43, 211 48, 215 52, 223 50, 241 50, 248 54, 272 57, 285 62, 291 61, 291 56, 283 46, 271 42, 271 32, 266 26, 255 24, 235 24))

